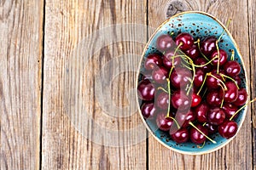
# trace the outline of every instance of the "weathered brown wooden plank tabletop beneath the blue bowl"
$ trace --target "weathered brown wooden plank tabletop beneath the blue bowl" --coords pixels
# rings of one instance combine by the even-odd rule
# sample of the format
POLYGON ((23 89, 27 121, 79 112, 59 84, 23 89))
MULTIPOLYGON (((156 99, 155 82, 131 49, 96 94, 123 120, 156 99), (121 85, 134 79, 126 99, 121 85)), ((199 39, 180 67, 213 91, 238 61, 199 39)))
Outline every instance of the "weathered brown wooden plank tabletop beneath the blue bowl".
POLYGON ((255 7, 254 0, 0 1, 0 169, 256 169, 255 103, 230 144, 184 156, 147 138, 128 95, 154 29, 167 16, 201 10, 232 19, 255 97, 255 7))

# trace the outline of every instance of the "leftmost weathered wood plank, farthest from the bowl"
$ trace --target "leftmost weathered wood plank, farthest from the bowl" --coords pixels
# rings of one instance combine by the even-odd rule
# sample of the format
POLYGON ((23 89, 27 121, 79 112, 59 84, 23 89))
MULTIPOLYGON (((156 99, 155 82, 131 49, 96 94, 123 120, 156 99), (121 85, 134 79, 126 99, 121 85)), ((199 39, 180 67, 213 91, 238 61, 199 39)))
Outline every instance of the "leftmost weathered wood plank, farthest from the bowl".
POLYGON ((0 1, 0 169, 38 169, 43 1, 0 1))

